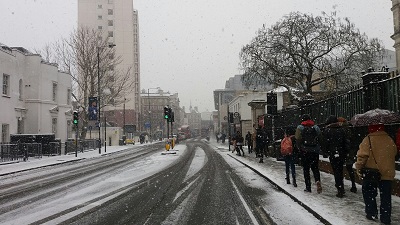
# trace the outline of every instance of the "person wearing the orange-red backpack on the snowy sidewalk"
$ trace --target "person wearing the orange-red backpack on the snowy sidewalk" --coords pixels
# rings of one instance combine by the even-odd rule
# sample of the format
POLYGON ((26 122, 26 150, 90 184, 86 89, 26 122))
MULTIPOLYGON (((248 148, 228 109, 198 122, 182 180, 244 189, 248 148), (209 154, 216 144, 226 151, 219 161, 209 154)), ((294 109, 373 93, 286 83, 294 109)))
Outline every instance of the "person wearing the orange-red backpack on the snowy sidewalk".
POLYGON ((296 167, 295 161, 295 149, 296 149, 296 138, 294 137, 294 129, 288 128, 285 131, 285 136, 281 141, 281 154, 285 160, 286 167, 286 183, 290 184, 290 171, 292 172, 293 186, 297 187, 296 183, 296 167))

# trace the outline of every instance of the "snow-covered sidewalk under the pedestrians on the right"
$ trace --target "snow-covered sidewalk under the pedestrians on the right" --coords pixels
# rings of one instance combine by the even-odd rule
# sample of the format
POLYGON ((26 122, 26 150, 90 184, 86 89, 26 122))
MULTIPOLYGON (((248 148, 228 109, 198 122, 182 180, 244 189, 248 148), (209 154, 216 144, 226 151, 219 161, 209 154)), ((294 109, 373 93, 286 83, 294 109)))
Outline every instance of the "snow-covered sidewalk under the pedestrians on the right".
MULTIPOLYGON (((294 187, 292 184, 286 184, 285 175, 285 163, 283 161, 277 161, 276 158, 265 158, 264 163, 259 163, 259 159, 255 157, 255 154, 247 154, 247 148, 244 148, 245 156, 237 156, 236 152, 232 153, 228 150, 228 145, 217 143, 215 140, 211 140, 217 152, 219 152, 225 159, 235 158, 251 168, 256 169, 263 176, 271 180, 275 185, 282 188, 282 190, 293 198, 304 203, 312 210, 317 212, 323 218, 328 220, 331 224, 335 225, 347 225, 347 224, 379 224, 378 221, 369 221, 365 218, 364 213, 364 201, 361 193, 361 185, 357 184, 357 193, 350 192, 351 182, 345 180, 345 197, 336 197, 335 181, 332 174, 321 171, 321 182, 322 182, 322 193, 318 194, 316 191, 316 185, 312 186, 312 192, 304 192, 305 183, 303 176, 303 169, 300 166, 296 166, 296 180, 298 187, 294 187)), ((231 146, 232 150, 232 146, 231 146)), ((243 170, 243 168, 239 170, 243 170)), ((249 172, 246 176, 252 176, 249 172)), ((311 172, 311 181, 313 182, 313 174, 311 172)), ((293 201, 293 204, 297 204, 293 201)), ((287 208, 277 205, 276 211, 288 212, 287 208), (281 208, 280 208, 281 207, 281 208)), ((286 205, 287 206, 287 205, 286 205)), ((378 197, 378 208, 379 208, 379 197, 378 197)), ((379 209, 378 209, 379 210, 379 209)), ((392 195, 392 224, 400 224, 400 198, 392 195)), ((286 224, 286 223, 285 223, 286 224)), ((291 223, 287 223, 291 224, 291 223)))

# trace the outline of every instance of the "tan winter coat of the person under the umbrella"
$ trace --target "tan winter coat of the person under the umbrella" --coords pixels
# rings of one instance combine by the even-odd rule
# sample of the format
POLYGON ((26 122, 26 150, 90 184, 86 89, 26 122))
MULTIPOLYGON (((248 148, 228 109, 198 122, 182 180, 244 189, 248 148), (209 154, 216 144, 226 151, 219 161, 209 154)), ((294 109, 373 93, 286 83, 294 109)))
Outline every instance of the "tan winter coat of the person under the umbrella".
POLYGON ((375 131, 368 134, 361 142, 355 167, 357 170, 364 167, 379 169, 382 180, 393 180, 396 173, 396 153, 393 139, 385 131, 375 131))

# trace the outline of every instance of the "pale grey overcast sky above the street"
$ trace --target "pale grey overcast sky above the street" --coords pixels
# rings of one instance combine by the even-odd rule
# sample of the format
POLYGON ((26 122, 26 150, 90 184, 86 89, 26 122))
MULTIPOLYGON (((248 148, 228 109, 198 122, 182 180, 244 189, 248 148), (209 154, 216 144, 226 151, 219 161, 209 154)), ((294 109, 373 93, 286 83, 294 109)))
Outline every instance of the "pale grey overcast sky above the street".
MULTIPOLYGON (((118 0, 115 0, 118 1, 118 0)), ((214 110, 213 91, 240 74, 239 52, 256 31, 300 11, 336 11, 394 50, 389 0, 134 0, 139 12, 141 88, 179 93, 181 106, 214 110)), ((68 36, 76 0, 1 0, 0 42, 32 50, 68 36)))

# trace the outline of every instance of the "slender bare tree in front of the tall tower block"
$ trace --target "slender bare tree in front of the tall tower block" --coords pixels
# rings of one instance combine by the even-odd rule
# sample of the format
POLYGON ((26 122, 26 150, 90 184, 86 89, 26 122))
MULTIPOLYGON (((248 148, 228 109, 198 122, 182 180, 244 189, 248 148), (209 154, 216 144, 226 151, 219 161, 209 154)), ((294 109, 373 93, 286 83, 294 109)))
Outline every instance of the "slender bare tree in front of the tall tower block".
POLYGON ((130 68, 126 71, 118 69, 121 56, 116 56, 115 49, 110 48, 108 40, 102 37, 99 30, 80 27, 69 38, 51 45, 52 51, 49 51, 48 46, 44 49, 50 62, 57 63, 60 70, 71 74, 73 98, 79 111, 83 112, 80 116, 82 139, 86 137, 85 128, 89 122, 89 97, 100 94, 100 108, 105 105, 119 105, 124 102, 124 96, 131 91, 134 84, 130 68))

